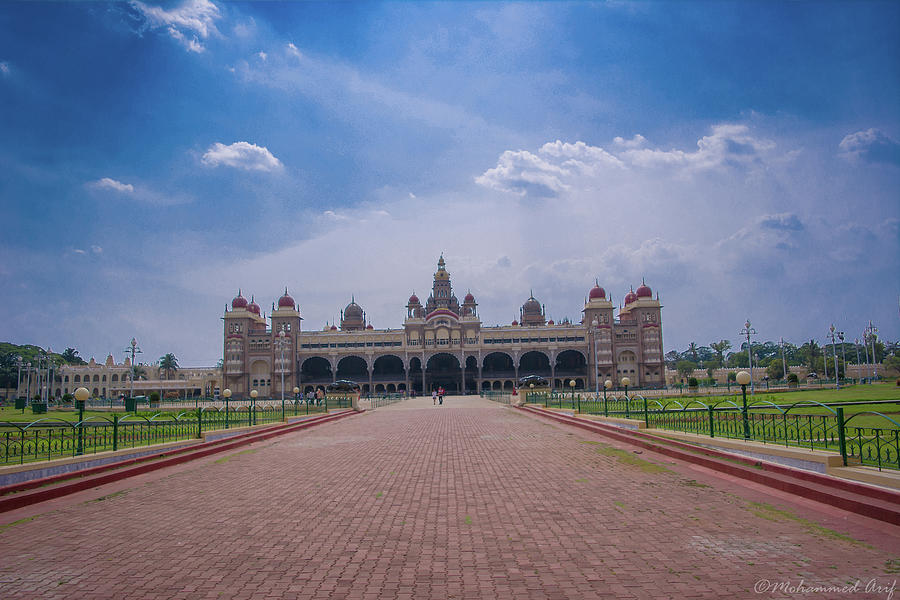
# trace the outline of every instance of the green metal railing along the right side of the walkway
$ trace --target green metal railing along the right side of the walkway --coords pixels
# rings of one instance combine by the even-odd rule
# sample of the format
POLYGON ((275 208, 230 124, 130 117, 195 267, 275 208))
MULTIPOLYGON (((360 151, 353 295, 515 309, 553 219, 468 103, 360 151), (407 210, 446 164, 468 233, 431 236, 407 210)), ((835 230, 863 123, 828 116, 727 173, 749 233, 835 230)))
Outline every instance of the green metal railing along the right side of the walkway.
POLYGON ((858 461, 878 469, 900 469, 900 423, 874 411, 845 418, 843 406, 804 401, 785 408, 764 401, 748 407, 745 415, 742 407, 732 400, 705 404, 692 399, 682 404, 678 400, 648 400, 637 394, 595 399, 592 395, 562 392, 529 392, 527 398, 529 403, 545 408, 642 420, 646 427, 710 437, 829 450, 840 452, 845 465, 858 461), (796 412, 809 408, 823 410, 825 414, 796 412), (868 423, 863 423, 864 416, 868 423), (858 425, 854 424, 855 420, 858 425))

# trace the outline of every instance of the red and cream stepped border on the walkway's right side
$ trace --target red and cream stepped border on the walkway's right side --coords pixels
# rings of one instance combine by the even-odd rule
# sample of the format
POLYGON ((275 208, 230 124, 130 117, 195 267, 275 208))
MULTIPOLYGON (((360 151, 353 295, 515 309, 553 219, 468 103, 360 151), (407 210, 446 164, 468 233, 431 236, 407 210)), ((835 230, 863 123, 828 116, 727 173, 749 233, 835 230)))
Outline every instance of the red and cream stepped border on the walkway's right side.
POLYGON ((790 492, 810 500, 830 504, 859 515, 900 525, 900 493, 854 481, 837 479, 811 471, 749 459, 685 442, 586 421, 530 406, 516 407, 523 412, 586 429, 627 444, 658 452, 672 458, 701 465, 768 487, 790 492))

